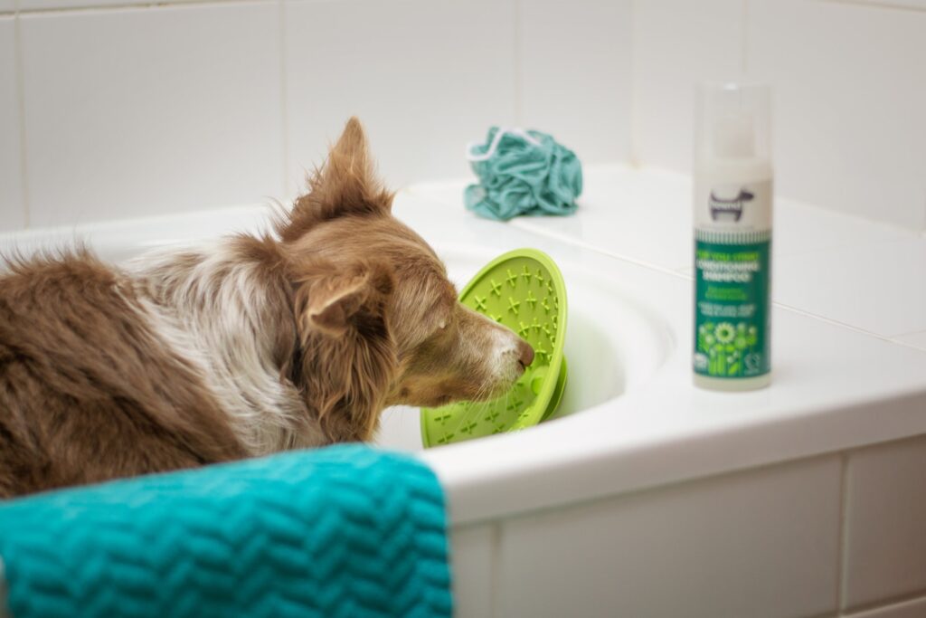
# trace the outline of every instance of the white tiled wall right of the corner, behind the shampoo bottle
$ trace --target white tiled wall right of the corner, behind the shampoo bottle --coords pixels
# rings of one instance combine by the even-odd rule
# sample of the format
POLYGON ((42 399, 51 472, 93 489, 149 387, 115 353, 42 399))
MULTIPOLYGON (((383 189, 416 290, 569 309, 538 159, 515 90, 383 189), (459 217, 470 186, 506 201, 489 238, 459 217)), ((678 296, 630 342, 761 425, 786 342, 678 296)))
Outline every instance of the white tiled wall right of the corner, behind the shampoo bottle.
POLYGON ((637 161, 687 171, 691 84, 775 86, 776 190, 926 230, 926 0, 638 0, 637 161))

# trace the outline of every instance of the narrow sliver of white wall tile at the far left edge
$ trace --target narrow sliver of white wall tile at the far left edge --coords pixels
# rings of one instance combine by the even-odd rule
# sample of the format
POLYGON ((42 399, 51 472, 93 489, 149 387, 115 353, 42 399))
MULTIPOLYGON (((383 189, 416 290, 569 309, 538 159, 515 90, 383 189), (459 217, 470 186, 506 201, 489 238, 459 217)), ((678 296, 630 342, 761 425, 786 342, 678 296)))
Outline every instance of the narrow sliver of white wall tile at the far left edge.
POLYGON ((14 21, 0 18, 0 230, 19 230, 26 226, 14 50, 14 21))

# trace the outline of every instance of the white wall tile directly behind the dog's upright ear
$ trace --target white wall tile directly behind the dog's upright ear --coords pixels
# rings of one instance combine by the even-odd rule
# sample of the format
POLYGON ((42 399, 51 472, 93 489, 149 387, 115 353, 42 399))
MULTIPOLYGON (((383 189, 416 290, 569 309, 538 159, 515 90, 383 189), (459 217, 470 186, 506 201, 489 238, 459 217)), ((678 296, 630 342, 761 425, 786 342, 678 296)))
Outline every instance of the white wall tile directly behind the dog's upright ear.
MULTIPOLYGON (((512 0, 287 2, 290 176, 357 115, 386 183, 469 175, 466 145, 514 122, 512 0)), ((291 187, 292 190, 292 187, 291 187)))

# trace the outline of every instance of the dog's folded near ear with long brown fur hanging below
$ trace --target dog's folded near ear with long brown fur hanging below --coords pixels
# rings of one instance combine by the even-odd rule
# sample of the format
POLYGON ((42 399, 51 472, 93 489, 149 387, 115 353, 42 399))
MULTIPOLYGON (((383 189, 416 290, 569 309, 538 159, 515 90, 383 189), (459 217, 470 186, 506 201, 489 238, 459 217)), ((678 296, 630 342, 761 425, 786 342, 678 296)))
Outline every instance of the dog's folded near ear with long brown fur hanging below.
POLYGON ((369 440, 398 371, 387 314, 393 274, 373 261, 311 271, 294 290, 295 381, 330 442, 369 440))

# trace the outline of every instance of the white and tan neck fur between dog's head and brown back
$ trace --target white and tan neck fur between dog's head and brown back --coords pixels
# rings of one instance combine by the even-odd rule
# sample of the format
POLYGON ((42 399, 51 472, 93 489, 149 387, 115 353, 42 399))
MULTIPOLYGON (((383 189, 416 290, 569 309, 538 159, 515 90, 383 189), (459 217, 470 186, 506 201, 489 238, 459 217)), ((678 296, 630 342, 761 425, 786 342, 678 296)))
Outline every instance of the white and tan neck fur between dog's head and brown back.
POLYGON ((236 237, 131 262, 144 313, 194 364, 251 455, 327 440, 292 382, 291 293, 261 259, 269 241, 236 237))

